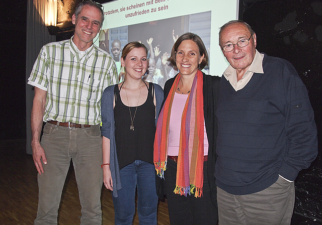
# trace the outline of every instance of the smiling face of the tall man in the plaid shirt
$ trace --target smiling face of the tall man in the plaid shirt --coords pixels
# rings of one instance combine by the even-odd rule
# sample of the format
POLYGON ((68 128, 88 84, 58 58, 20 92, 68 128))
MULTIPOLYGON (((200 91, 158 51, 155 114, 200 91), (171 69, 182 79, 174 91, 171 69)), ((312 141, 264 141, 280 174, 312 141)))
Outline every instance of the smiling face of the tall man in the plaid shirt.
POLYGON ((93 44, 93 39, 96 37, 101 28, 101 12, 99 9, 85 5, 81 13, 72 16, 72 24, 75 25, 75 33, 73 42, 79 50, 86 50, 93 44))

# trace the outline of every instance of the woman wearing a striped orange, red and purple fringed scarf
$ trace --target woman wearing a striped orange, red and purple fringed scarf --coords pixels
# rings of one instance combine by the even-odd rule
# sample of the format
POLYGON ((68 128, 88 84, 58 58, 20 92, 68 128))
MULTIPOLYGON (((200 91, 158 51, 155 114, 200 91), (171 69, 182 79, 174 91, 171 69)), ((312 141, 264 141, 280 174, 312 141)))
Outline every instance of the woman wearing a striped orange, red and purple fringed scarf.
POLYGON ((179 37, 169 61, 180 73, 165 84, 156 126, 157 194, 167 197, 172 225, 217 224, 213 174, 220 78, 201 72, 208 64, 208 54, 196 34, 179 37))

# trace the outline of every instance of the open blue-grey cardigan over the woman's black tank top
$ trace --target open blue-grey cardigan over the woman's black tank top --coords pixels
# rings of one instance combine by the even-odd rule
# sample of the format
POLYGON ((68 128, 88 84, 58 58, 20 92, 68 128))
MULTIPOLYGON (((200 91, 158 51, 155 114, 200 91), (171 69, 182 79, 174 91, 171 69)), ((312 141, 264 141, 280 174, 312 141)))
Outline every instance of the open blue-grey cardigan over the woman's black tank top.
MULTIPOLYGON (((156 99, 156 118, 159 115, 160 107, 164 98, 164 93, 162 87, 158 84, 149 83, 149 88, 151 85, 154 87, 154 95, 156 99)), ((113 180, 113 196, 117 197, 117 191, 122 188, 119 163, 116 154, 116 144, 115 144, 115 121, 114 121, 114 108, 113 108, 113 99, 114 99, 114 88, 115 85, 107 87, 102 95, 102 135, 110 139, 110 168, 111 175, 113 180)))

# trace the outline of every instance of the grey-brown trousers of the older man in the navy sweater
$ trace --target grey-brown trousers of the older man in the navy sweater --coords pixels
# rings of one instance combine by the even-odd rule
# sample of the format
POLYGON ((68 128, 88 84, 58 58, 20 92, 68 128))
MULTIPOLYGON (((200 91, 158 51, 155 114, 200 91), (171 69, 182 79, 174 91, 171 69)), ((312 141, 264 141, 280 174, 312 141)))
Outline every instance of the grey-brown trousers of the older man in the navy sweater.
POLYGON ((295 201, 294 182, 279 177, 253 194, 233 195, 217 187, 219 225, 289 225, 295 201))

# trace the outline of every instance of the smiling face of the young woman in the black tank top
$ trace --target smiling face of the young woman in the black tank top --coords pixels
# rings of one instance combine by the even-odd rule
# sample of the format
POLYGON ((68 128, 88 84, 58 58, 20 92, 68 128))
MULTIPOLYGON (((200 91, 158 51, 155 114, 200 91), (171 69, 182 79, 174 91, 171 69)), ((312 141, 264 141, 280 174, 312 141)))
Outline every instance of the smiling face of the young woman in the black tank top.
POLYGON ((144 48, 132 49, 124 59, 121 58, 121 65, 125 67, 126 79, 141 79, 147 69, 146 51, 144 48))

